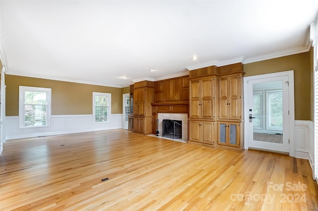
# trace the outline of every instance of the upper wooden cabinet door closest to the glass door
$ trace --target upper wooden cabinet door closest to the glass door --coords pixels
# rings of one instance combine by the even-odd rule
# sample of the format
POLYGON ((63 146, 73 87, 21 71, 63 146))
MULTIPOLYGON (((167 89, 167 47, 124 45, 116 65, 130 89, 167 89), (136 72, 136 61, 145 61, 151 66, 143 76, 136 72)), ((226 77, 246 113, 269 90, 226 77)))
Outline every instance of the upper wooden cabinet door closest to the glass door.
POLYGON ((239 75, 229 76, 229 89, 230 89, 230 101, 229 101, 229 119, 239 120, 241 117, 241 79, 239 75))

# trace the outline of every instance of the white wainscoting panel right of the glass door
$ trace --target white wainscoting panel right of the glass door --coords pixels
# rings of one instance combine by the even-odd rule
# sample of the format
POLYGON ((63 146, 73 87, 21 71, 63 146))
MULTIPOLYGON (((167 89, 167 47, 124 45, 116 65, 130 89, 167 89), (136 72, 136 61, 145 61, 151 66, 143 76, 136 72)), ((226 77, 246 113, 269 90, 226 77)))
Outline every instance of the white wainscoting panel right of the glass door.
POLYGON ((295 120, 295 157, 308 159, 314 164, 314 123, 295 120))

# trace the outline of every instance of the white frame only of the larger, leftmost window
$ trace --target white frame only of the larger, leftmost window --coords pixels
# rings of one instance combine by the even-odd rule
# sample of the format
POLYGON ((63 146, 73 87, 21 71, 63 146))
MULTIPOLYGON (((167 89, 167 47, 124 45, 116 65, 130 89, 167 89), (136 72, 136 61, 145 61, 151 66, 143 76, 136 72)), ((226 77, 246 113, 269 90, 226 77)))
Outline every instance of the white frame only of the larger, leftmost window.
POLYGON ((43 128, 51 126, 51 88, 31 87, 31 86, 19 86, 19 128, 43 128), (46 92, 47 109, 46 109, 46 125, 25 126, 24 124, 24 96, 26 91, 46 92))

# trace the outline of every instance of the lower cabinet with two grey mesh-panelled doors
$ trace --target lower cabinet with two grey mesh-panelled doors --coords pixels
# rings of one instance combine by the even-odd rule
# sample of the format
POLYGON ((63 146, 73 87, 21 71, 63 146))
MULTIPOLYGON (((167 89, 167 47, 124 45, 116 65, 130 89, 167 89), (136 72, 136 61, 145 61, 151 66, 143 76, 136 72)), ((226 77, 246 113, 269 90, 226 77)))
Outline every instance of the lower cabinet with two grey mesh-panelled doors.
POLYGON ((240 147, 240 123, 219 122, 218 144, 240 147))

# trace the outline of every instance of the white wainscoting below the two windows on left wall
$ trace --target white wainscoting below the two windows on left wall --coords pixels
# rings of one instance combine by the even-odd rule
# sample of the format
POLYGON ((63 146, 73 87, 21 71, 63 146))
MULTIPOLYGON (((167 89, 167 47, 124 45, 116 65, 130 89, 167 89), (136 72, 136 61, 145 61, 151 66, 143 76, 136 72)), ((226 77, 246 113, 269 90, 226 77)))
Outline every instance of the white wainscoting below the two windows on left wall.
POLYGON ((93 123, 93 115, 52 115, 51 126, 19 129, 19 117, 6 119, 6 140, 73 134, 122 128, 122 114, 112 114, 109 123, 93 123))

